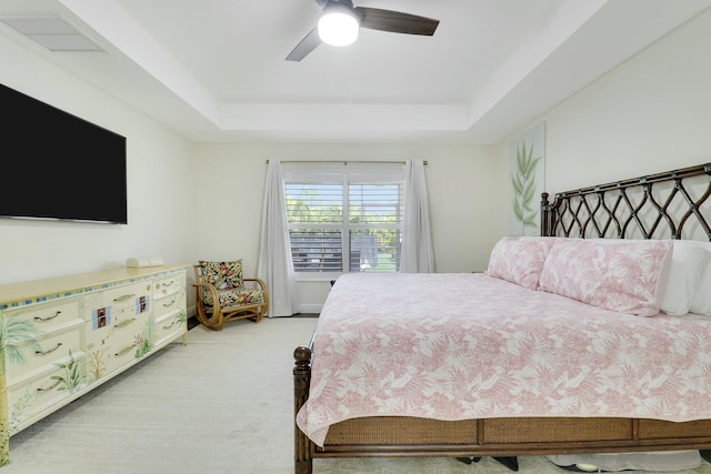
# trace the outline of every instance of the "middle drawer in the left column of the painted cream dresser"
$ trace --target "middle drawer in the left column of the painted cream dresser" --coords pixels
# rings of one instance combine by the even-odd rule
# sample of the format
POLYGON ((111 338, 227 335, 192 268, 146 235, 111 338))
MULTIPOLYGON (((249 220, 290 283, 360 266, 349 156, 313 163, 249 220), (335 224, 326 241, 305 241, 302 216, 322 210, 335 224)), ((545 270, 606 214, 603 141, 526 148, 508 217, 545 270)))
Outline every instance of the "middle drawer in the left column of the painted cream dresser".
POLYGON ((11 385, 21 379, 50 370, 54 364, 67 360, 70 353, 78 354, 81 351, 82 326, 83 322, 80 322, 79 325, 18 344, 17 350, 22 354, 23 361, 6 357, 7 384, 11 385))

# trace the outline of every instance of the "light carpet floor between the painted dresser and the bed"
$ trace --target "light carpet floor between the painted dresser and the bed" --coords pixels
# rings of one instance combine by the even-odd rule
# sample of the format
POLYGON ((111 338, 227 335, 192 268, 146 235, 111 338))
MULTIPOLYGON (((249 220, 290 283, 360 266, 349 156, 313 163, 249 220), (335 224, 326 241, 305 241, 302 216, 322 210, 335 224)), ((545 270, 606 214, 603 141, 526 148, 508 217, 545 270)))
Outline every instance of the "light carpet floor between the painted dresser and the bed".
MULTIPOLYGON (((293 473, 293 350, 317 319, 197 326, 10 438, 0 474, 293 473)), ((314 460, 321 473, 511 473, 490 457, 314 460)), ((520 473, 565 474, 544 457, 519 457, 520 473)), ((703 463, 680 474, 711 474, 703 463)))

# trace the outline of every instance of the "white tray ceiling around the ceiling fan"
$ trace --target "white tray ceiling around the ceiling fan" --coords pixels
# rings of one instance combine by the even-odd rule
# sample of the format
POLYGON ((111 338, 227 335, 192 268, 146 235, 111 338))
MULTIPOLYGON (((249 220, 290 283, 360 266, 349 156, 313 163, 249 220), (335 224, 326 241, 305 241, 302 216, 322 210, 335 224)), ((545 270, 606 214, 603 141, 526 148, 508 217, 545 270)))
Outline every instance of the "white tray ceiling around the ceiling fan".
POLYGON ((433 37, 361 29, 284 58, 314 0, 1 0, 60 16, 102 52, 26 46, 194 141, 494 143, 711 0, 354 0, 440 20, 433 37))

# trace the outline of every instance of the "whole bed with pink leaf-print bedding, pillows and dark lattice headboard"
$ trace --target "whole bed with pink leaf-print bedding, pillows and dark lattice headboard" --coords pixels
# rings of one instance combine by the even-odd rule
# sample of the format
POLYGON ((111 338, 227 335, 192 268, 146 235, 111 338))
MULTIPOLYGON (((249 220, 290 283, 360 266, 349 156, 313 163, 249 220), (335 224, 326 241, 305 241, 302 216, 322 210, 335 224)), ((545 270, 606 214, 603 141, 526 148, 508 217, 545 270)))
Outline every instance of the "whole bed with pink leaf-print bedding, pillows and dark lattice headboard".
POLYGON ((502 239, 484 273, 339 278, 294 351, 296 472, 319 457, 711 448, 710 292, 688 290, 711 255, 692 243, 711 240, 710 177, 544 193, 542 238, 502 239))

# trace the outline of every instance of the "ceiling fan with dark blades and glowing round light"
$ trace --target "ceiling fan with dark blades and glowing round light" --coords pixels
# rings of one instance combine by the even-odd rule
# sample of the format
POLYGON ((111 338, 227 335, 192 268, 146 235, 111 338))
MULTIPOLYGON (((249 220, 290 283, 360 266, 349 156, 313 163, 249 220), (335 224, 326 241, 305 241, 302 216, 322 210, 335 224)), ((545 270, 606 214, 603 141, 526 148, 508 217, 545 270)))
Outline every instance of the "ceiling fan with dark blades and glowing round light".
POLYGON ((319 7, 323 7, 319 23, 289 53, 287 61, 301 61, 321 42, 334 46, 350 44, 358 38, 360 28, 431 37, 440 24, 439 20, 415 14, 378 8, 353 7, 351 0, 316 0, 316 2, 319 7), (330 20, 341 22, 330 26, 330 20), (329 33, 337 38, 329 37, 329 33), (347 38, 342 38, 343 36, 347 38))

